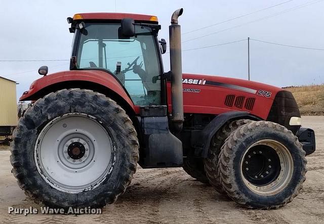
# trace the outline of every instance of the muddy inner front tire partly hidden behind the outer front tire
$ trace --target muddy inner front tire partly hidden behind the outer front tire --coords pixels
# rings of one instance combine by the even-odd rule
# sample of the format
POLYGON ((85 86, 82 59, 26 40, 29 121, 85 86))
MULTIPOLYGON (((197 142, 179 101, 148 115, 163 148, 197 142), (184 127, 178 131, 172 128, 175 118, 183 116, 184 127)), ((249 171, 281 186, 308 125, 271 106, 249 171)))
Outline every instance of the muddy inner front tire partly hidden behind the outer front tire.
POLYGON ((218 175, 218 156, 221 152, 221 148, 224 145, 227 137, 238 127, 252 122, 252 120, 240 119, 234 120, 226 123, 219 131, 216 132, 216 135, 211 141, 210 148, 208 150, 208 156, 205 159, 205 170, 206 176, 212 186, 216 188, 220 194, 226 194, 223 189, 223 186, 218 175))

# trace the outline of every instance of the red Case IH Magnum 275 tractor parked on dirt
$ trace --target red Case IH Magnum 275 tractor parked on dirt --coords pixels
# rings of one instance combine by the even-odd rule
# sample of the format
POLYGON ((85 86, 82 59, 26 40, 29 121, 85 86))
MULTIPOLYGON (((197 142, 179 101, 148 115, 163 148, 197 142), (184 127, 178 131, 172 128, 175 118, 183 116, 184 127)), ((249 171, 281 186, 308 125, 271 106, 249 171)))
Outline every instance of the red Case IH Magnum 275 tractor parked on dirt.
POLYGON ((250 208, 292 201, 305 181, 314 131, 301 128, 285 89, 234 78, 182 74, 178 17, 172 15, 171 71, 163 70, 155 16, 82 13, 70 70, 35 80, 13 136, 19 186, 52 207, 116 201, 143 168, 183 167, 250 208))

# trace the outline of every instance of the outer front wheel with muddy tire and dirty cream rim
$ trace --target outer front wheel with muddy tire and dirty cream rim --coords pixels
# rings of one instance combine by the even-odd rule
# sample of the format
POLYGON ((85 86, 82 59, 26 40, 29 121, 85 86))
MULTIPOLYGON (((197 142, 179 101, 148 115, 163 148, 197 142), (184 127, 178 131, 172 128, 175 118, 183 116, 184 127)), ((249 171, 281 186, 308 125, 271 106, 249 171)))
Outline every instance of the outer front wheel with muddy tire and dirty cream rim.
POLYGON ((255 121, 231 133, 219 154, 222 186, 235 202, 271 209, 291 202, 302 189, 305 152, 286 127, 255 121))

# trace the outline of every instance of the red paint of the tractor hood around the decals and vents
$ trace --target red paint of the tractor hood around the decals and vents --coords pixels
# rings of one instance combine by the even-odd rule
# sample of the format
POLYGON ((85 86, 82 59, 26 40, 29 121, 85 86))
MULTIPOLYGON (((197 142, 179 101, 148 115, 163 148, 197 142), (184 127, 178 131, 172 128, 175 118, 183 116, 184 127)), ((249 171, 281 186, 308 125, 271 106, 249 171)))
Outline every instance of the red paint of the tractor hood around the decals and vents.
MULTIPOLYGON (((267 84, 254 82, 254 81, 236 79, 236 78, 227 78, 227 77, 211 76, 211 75, 197 75, 197 74, 183 74, 183 78, 205 79, 208 81, 216 81, 216 82, 248 87, 248 88, 256 89, 256 91, 259 91, 261 89, 263 91, 269 91, 272 93, 270 98, 266 98, 266 97, 258 96, 256 94, 251 94, 244 91, 239 91, 236 89, 226 88, 222 86, 183 83, 183 88, 201 89, 200 93, 187 93, 187 92, 183 93, 184 113, 221 114, 229 111, 246 111, 244 108, 238 109, 235 108, 234 106, 233 107, 225 106, 224 104, 225 97, 229 94, 234 94, 235 96, 245 96, 246 98, 254 97, 256 100, 254 103, 253 110, 250 111, 250 113, 260 118, 266 119, 269 114, 275 95, 279 91, 282 91, 281 88, 272 85, 267 85, 267 84)), ((169 111, 172 111, 170 82, 167 82, 167 92, 168 92, 169 111)))

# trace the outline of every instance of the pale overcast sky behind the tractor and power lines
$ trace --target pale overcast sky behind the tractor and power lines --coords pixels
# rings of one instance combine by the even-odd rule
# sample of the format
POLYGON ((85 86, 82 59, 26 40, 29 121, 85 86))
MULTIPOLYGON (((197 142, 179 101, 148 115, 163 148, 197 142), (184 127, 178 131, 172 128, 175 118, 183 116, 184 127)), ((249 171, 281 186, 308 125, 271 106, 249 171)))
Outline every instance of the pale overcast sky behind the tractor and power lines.
MULTIPOLYGON (((186 33, 287 1, 0 0, 0 60, 68 60, 73 34, 68 31, 66 17, 76 13, 116 11, 156 15, 162 26, 159 38, 168 41, 170 17, 178 8, 184 9, 179 23, 182 32, 186 33)), ((323 0, 293 0, 230 22, 183 34, 182 49, 212 46, 248 36, 262 41, 324 49, 323 10, 323 0), (307 6, 307 3, 314 4, 307 6), (288 11, 297 6, 305 7, 288 11), (286 13, 279 14, 282 11, 286 13), (256 21, 267 16, 270 18, 256 21), (214 32, 217 33, 207 35, 214 32), (190 39, 194 40, 187 41, 190 39)), ((324 82, 324 51, 283 47, 254 40, 251 40, 250 47, 251 79, 254 81, 276 86, 324 82)), ((185 73, 242 79, 248 76, 247 41, 185 51, 182 60, 185 73)), ((49 73, 69 68, 68 61, 0 62, 0 76, 20 83, 17 85, 17 97, 20 97, 30 83, 40 77, 37 70, 42 65, 48 65, 49 73)), ((168 54, 164 55, 164 66, 165 71, 170 69, 168 54)))

